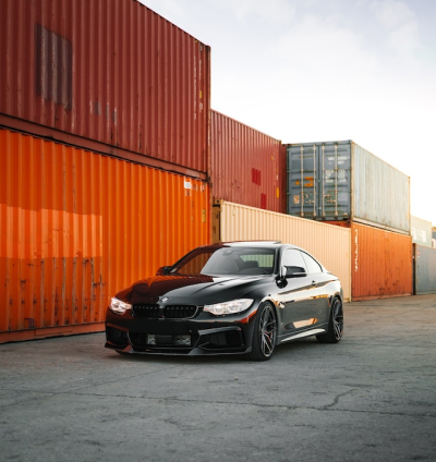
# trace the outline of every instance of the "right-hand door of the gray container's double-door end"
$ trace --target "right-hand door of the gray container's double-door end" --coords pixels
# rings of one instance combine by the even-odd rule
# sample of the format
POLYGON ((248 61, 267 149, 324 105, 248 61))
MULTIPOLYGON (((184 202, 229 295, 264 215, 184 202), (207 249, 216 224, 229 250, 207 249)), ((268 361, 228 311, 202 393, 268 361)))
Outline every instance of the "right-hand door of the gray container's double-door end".
POLYGON ((351 218, 351 144, 325 143, 319 150, 319 216, 323 220, 351 218))

